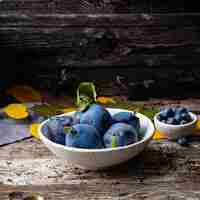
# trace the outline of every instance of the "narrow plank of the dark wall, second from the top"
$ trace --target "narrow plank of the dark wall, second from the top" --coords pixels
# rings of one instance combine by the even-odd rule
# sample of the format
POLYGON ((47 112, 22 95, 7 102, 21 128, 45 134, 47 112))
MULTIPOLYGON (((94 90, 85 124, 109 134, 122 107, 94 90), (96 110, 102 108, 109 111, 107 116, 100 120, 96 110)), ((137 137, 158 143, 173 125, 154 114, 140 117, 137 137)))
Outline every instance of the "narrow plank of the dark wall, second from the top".
POLYGON ((199 13, 180 14, 36 14, 3 11, 1 27, 180 27, 199 25, 199 13))

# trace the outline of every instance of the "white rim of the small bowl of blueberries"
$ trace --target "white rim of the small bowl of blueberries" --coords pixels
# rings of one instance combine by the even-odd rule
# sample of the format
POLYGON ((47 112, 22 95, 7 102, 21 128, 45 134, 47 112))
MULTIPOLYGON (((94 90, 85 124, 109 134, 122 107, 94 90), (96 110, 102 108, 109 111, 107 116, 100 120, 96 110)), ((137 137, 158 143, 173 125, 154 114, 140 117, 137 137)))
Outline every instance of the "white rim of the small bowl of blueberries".
POLYGON ((164 122, 161 122, 160 120, 158 120, 158 115, 160 114, 160 113, 162 113, 163 111, 161 111, 161 112, 158 112, 158 113, 156 113, 155 114, 155 116, 154 116, 154 123, 159 123, 160 125, 162 125, 162 126, 165 126, 165 127, 188 127, 188 126, 191 126, 191 125, 193 125, 193 124, 195 124, 196 122, 197 122, 197 115, 196 114, 194 114, 193 112, 188 112, 189 113, 189 115, 193 118, 193 120, 191 121, 191 122, 188 122, 188 123, 186 123, 186 124, 167 124, 167 123, 164 123, 164 122))

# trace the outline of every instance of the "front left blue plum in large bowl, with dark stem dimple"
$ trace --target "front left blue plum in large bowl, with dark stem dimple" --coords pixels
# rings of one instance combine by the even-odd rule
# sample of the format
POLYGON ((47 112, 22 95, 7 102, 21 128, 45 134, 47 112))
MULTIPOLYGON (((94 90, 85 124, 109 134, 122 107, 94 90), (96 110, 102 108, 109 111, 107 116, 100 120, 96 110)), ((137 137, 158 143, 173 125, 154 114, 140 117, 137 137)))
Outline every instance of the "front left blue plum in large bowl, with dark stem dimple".
POLYGON ((99 132, 91 125, 76 124, 65 134, 68 147, 99 149, 103 148, 99 132))

